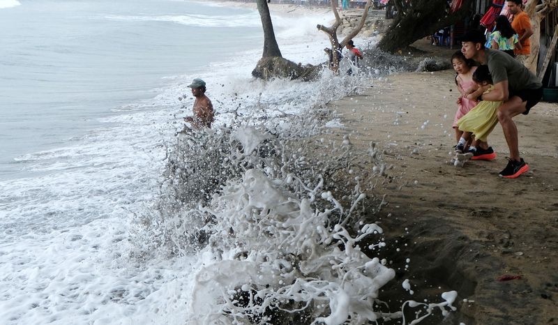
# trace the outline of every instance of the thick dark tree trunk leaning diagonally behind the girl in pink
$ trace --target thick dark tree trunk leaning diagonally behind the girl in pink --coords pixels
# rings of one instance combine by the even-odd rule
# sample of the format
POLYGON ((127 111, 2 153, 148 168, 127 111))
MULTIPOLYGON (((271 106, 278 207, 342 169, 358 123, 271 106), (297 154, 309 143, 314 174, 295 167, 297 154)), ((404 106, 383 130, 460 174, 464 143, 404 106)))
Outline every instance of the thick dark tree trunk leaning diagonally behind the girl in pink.
POLYGON ((391 2, 397 9, 397 14, 389 27, 389 32, 379 41, 378 47, 392 53, 462 20, 470 15, 472 5, 472 0, 464 0, 459 10, 451 13, 446 0, 391 0, 391 2))

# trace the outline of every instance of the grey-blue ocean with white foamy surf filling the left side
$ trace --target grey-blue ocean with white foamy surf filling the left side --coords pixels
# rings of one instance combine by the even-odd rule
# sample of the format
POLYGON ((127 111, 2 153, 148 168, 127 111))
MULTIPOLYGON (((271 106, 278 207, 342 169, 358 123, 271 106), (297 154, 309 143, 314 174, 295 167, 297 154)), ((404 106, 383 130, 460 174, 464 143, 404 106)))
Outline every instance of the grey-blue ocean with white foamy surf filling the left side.
MULTIPOLYGON (((283 56, 326 60, 329 41, 315 27, 332 15, 272 17, 283 56)), ((254 80, 263 45, 257 10, 220 3, 0 0, 0 30, 2 324, 242 324, 258 310, 232 312, 238 303, 227 298, 239 287, 262 301, 314 301, 317 315, 331 314, 326 324, 372 317, 361 301, 393 270, 352 254, 357 241, 332 250, 333 239, 349 239, 329 225, 344 210, 317 181, 306 149, 276 160, 250 154, 268 142, 273 156, 287 150, 287 135, 340 126, 309 112, 368 86, 370 76, 254 80), (199 138, 181 133, 194 77, 207 82, 216 109, 214 131, 199 138), (169 169, 177 157, 182 165, 169 169), (193 165, 228 176, 222 191, 194 182, 201 196, 176 199, 180 175, 200 173, 193 165), (208 214, 213 221, 198 227, 208 214), (190 228, 210 234, 209 245, 186 247, 190 228), (317 255, 296 269, 321 280, 296 275, 289 262, 310 251, 317 255), (351 275, 325 272, 332 261, 338 275, 351 275)), ((377 152, 369 154, 380 175, 377 152)), ((358 188, 355 206, 365 197, 358 188)), ((381 233, 362 225, 361 234, 381 233)), ((382 247, 381 237, 370 247, 382 247)))

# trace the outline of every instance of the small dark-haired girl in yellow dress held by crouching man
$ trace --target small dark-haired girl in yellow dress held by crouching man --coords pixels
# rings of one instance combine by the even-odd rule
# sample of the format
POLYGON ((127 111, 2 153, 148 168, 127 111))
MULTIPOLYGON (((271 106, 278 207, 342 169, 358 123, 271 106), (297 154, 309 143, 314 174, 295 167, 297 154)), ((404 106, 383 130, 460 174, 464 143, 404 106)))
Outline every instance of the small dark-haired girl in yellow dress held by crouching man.
MULTIPOLYGON (((494 89, 488 66, 479 66, 473 73, 473 80, 478 85, 478 89, 467 95, 469 99, 476 99, 483 93, 489 93, 494 89), (483 89, 486 89, 488 85, 490 85, 490 88, 484 91, 483 89)), ((502 105, 502 101, 481 100, 457 121, 458 128, 463 131, 463 135, 459 139, 458 145, 455 146, 455 152, 463 153, 465 151, 465 144, 469 142, 472 134, 475 135, 476 139, 487 142, 488 135, 498 123, 497 112, 500 105, 502 105)))

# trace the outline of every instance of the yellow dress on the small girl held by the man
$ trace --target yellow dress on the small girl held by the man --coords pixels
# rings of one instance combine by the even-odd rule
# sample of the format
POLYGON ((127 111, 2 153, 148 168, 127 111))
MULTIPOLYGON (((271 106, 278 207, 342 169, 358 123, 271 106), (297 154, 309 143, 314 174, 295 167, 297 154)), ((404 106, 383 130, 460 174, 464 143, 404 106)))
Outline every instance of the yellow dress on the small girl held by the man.
MULTIPOLYGON (((489 93, 492 89, 494 86, 484 93, 489 93)), ((486 142, 488 135, 498 123, 497 112, 500 105, 502 105, 502 101, 481 100, 481 103, 478 103, 457 121, 459 130, 474 133, 476 139, 486 142)))

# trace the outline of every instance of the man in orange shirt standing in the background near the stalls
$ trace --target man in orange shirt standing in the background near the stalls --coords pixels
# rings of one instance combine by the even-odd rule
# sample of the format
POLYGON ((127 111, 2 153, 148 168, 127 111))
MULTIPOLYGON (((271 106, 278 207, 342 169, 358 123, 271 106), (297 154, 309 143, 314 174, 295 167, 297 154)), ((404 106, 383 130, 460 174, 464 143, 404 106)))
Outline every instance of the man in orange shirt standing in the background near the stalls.
POLYGON ((533 29, 531 28, 531 19, 529 15, 525 13, 522 9, 522 0, 511 0, 508 1, 508 10, 513 14, 513 22, 511 22, 511 27, 519 35, 519 42, 515 43, 515 59, 518 59, 521 63, 525 65, 527 57, 531 54, 531 42, 529 37, 533 35, 533 29))

